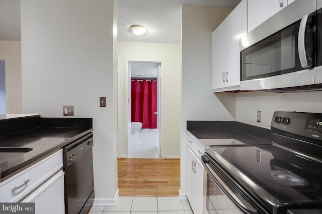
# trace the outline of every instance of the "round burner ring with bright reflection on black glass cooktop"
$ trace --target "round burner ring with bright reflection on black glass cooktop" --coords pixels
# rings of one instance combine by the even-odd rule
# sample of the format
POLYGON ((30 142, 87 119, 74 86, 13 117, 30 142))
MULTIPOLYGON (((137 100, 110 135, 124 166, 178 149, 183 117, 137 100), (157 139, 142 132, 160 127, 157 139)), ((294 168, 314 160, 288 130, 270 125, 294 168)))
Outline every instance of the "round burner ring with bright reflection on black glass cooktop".
POLYGON ((301 176, 285 170, 272 170, 271 175, 278 182, 291 187, 304 187, 309 184, 309 182, 301 176))

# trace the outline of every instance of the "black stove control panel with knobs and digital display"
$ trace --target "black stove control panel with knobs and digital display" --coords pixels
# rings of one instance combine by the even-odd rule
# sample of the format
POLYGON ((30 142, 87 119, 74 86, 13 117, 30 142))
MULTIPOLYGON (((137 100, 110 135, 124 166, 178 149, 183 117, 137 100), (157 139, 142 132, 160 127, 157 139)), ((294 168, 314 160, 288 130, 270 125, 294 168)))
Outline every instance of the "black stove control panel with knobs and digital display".
POLYGON ((322 140, 322 114, 306 112, 274 112, 273 132, 322 140))

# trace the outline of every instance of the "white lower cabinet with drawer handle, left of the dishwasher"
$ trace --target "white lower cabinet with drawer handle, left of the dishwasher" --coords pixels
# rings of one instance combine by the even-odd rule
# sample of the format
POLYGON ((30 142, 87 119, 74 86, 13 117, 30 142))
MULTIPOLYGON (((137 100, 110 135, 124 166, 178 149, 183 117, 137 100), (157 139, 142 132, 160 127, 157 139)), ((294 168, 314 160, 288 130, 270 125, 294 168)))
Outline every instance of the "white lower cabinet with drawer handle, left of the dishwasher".
POLYGON ((35 202, 35 213, 63 214, 62 149, 0 182, 1 202, 35 202))

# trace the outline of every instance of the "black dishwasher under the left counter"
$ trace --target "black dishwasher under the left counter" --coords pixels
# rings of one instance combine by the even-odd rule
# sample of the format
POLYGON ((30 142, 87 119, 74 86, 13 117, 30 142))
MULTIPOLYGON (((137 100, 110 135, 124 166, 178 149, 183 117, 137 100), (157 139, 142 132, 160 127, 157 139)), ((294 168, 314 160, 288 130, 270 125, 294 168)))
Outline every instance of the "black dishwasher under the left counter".
POLYGON ((87 213, 94 202, 93 133, 63 147, 65 213, 87 213))

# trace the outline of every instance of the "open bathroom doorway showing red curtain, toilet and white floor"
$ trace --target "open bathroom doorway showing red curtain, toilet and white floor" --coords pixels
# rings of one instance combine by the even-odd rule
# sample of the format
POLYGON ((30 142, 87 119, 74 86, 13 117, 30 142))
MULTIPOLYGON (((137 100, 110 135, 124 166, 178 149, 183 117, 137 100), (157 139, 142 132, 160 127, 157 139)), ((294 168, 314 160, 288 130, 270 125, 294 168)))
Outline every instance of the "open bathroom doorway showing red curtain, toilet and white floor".
POLYGON ((127 156, 160 158, 161 62, 127 61, 127 156), (134 122, 134 123, 133 123, 134 122))

